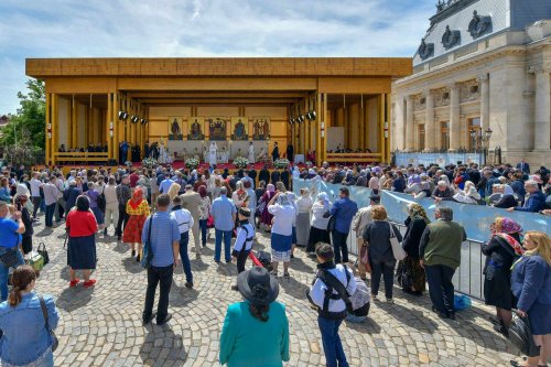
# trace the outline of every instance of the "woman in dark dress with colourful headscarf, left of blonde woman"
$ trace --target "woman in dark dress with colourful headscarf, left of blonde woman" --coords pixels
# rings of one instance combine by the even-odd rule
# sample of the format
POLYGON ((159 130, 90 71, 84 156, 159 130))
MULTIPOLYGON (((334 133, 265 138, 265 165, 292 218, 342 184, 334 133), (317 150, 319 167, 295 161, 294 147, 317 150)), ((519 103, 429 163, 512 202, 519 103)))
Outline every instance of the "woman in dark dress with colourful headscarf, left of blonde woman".
POLYGON ((520 245, 522 227, 511 218, 498 217, 490 225, 490 240, 482 246, 486 256, 484 301, 496 307, 496 317, 490 317, 490 321, 498 332, 507 336, 514 306, 510 269, 515 259, 525 253, 520 245))

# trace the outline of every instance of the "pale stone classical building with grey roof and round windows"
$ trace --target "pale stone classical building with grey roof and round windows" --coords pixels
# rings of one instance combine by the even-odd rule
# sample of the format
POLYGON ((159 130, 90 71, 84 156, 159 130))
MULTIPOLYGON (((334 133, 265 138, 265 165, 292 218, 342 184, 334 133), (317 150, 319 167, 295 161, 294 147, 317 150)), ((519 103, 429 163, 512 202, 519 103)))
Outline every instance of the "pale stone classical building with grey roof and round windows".
POLYGON ((550 168, 551 1, 439 0, 430 21, 392 84, 391 149, 500 147, 503 162, 550 168))

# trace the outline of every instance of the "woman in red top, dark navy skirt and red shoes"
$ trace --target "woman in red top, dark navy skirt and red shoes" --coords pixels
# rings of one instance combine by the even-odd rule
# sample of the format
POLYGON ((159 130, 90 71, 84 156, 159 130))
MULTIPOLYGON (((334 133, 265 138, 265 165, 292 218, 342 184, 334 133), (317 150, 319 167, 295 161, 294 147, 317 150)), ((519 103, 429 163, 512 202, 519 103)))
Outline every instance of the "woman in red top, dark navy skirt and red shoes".
POLYGON ((68 230, 67 265, 69 266, 69 287, 76 287, 79 279, 76 270, 84 273, 84 288, 94 287, 95 279, 90 279, 91 269, 96 269, 96 231, 98 224, 90 211, 87 196, 80 195, 66 218, 65 226, 68 230))

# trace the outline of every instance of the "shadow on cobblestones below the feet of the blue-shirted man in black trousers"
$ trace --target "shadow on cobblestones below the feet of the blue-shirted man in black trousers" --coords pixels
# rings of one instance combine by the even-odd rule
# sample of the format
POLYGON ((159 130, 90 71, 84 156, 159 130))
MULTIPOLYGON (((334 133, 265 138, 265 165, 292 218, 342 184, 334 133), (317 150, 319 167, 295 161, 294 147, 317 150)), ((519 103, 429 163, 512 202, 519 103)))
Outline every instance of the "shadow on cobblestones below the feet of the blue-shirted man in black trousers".
POLYGON ((145 339, 140 347, 140 358, 144 366, 183 366, 187 353, 182 335, 176 335, 166 325, 153 323, 145 327, 145 339))

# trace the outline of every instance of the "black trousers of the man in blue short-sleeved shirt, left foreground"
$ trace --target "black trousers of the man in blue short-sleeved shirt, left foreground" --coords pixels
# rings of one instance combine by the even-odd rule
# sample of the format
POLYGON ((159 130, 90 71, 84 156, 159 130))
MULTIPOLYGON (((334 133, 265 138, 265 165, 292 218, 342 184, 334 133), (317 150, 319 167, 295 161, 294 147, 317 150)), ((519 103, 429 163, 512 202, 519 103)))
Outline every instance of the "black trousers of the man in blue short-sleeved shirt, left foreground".
POLYGON ((156 306, 156 322, 163 322, 169 314, 169 293, 172 285, 174 265, 168 267, 150 267, 148 269, 148 290, 145 291, 145 306, 143 307, 143 320, 150 320, 155 302, 156 285, 160 284, 159 304, 156 306))

